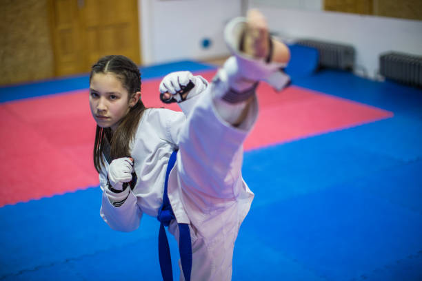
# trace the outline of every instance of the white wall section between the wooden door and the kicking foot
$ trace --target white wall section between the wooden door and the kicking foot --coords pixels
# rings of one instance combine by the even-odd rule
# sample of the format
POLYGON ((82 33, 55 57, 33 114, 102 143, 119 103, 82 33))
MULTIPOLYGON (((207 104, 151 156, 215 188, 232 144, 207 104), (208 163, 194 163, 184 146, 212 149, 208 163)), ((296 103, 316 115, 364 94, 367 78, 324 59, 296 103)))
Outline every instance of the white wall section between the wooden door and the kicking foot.
POLYGON ((240 0, 138 0, 143 64, 228 55, 225 23, 241 15, 240 0), (203 48, 203 39, 212 41, 203 48))

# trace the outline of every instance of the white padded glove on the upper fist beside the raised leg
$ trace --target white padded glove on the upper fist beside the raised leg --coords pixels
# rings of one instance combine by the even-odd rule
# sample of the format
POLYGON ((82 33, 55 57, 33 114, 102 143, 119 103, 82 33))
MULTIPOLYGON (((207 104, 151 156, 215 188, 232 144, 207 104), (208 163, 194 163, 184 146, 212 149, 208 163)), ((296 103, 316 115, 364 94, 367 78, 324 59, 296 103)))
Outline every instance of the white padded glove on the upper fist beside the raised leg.
POLYGON ((188 71, 178 71, 167 74, 160 83, 160 98, 164 103, 181 103, 188 98, 197 96, 207 87, 208 82, 202 76, 193 76, 188 71), (164 94, 172 94, 165 99, 164 94))

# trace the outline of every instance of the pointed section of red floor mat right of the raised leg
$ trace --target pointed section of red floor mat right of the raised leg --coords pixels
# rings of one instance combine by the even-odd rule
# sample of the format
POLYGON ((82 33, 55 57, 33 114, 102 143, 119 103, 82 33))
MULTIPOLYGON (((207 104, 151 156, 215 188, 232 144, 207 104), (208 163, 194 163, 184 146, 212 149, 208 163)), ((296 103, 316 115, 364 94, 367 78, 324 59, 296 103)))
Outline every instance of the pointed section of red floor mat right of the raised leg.
POLYGON ((245 149, 345 129, 393 116, 392 112, 348 101, 336 96, 291 86, 274 92, 261 84, 260 113, 245 149))

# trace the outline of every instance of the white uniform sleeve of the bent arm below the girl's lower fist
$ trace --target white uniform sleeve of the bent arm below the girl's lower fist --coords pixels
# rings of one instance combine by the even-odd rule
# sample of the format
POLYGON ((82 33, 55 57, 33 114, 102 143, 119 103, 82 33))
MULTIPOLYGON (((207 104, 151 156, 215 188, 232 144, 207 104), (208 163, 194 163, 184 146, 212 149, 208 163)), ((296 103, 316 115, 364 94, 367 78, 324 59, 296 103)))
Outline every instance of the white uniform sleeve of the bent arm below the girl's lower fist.
MULTIPOLYGON (((99 174, 100 187, 103 191, 100 216, 114 230, 134 231, 139 227, 142 218, 142 211, 137 205, 137 197, 128 189, 127 198, 113 200, 113 194, 107 188, 107 176, 104 169, 99 174), (114 201, 114 204, 113 204, 114 201), (117 203, 117 204, 116 204, 117 203)), ((122 193, 123 194, 123 193, 122 193)))

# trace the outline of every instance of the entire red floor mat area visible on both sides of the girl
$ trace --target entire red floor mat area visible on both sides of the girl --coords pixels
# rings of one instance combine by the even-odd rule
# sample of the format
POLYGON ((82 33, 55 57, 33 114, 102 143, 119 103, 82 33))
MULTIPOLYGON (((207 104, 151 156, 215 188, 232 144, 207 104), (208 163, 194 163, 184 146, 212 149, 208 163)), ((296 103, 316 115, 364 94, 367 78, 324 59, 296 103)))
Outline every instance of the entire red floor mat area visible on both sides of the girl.
MULTIPOLYGON (((210 80, 214 74, 204 72, 210 80)), ((142 85, 148 107, 162 107, 161 79, 142 85)), ((376 121, 391 112, 300 87, 259 86, 260 114, 245 142, 253 149, 376 121)), ((165 105, 178 110, 177 105, 165 105)), ((0 105, 0 207, 98 184, 92 166, 95 123, 88 90, 0 105)))

